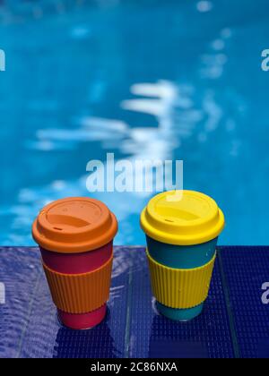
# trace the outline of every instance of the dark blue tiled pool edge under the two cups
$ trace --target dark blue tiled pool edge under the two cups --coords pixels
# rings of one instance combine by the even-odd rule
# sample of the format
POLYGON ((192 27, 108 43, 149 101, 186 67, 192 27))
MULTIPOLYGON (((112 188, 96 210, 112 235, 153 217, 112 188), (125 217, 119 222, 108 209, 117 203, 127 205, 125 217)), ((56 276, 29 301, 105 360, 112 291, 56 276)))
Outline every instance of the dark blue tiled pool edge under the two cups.
POLYGON ((269 247, 218 247, 204 312, 182 324, 156 312, 143 247, 116 247, 106 320, 73 331, 56 319, 39 252, 0 248, 0 357, 269 357, 268 270, 269 247))

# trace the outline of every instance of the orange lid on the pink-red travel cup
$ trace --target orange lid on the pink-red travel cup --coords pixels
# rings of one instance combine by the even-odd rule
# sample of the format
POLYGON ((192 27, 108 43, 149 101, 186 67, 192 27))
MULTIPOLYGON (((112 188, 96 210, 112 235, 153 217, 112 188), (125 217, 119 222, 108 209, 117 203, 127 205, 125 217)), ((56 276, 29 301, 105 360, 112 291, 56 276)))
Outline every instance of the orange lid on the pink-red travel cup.
POLYGON ((92 251, 117 234, 117 219, 101 201, 74 197, 50 203, 39 212, 32 235, 40 247, 54 252, 92 251))

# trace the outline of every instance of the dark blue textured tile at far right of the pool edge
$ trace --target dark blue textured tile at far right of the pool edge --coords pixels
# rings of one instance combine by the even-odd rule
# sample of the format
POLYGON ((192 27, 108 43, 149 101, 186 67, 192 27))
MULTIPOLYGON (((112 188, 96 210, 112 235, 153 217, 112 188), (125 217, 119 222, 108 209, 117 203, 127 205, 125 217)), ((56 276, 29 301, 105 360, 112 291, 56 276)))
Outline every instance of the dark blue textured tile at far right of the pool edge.
POLYGON ((269 247, 221 247, 239 355, 269 357, 269 305, 262 285, 269 282, 269 247))

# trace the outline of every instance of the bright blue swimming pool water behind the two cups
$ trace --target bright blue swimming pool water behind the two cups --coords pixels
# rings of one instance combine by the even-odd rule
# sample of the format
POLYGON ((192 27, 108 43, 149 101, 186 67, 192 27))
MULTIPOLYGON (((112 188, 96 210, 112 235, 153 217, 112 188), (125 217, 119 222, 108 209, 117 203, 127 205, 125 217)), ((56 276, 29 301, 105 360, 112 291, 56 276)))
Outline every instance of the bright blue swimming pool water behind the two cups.
MULTIPOLYGON (((89 195, 86 164, 107 152, 183 159, 185 188, 226 214, 221 244, 269 243, 267 1, 19 3, 0 7, 0 244, 32 244, 45 203, 89 195)), ((149 195, 94 197, 117 244, 144 244, 149 195)))

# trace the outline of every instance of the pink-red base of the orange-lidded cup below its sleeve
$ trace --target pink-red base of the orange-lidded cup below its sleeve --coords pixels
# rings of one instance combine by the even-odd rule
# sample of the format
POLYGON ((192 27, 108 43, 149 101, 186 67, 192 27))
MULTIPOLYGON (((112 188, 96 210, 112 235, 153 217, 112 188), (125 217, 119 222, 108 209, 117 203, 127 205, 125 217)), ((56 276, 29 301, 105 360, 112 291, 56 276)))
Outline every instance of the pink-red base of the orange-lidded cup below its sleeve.
POLYGON ((68 313, 58 310, 58 317, 67 328, 76 330, 92 329, 104 320, 106 312, 107 304, 104 304, 98 310, 88 313, 68 313))

